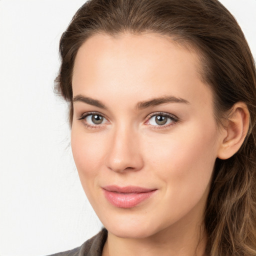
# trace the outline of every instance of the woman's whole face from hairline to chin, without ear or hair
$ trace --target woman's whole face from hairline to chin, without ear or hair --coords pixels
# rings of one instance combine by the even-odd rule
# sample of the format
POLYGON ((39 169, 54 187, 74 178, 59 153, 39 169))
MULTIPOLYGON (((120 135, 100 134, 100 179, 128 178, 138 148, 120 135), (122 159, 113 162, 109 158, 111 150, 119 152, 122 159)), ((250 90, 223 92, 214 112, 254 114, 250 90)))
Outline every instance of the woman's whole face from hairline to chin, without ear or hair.
POLYGON ((71 146, 109 232, 148 237, 200 225, 221 131, 189 51, 155 34, 93 35, 73 70, 71 146))

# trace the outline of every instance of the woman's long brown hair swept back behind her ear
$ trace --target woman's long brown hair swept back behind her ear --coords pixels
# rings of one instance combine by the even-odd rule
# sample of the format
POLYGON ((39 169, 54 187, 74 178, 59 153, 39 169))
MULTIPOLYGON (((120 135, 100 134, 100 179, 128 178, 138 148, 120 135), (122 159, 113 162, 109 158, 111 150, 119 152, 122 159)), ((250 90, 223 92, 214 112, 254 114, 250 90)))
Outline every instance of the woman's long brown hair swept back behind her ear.
POLYGON ((217 0, 89 0, 75 13, 60 39, 56 89, 70 104, 78 48, 95 33, 153 32, 192 47, 201 77, 214 96, 218 123, 234 103, 250 113, 247 136, 232 157, 216 159, 205 208, 206 251, 212 256, 256 255, 256 75, 244 35, 217 0))

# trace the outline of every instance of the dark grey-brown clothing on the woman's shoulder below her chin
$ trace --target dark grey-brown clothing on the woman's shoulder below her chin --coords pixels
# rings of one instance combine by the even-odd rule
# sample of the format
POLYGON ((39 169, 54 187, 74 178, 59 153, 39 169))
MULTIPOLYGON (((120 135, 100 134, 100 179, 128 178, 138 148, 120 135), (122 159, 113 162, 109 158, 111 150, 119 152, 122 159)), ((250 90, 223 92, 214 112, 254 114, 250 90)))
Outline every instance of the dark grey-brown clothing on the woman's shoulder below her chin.
POLYGON ((106 238, 107 230, 103 228, 99 233, 85 241, 81 246, 48 256, 101 256, 106 238))

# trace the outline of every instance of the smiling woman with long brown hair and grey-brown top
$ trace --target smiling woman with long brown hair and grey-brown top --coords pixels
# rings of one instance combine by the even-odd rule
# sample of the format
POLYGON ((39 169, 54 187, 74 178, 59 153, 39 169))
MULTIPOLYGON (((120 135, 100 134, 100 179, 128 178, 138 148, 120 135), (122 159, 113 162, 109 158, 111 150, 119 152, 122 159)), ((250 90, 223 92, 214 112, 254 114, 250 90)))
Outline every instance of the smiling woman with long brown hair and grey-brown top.
POLYGON ((56 87, 104 229, 57 255, 256 255, 255 66, 217 0, 91 0, 56 87))

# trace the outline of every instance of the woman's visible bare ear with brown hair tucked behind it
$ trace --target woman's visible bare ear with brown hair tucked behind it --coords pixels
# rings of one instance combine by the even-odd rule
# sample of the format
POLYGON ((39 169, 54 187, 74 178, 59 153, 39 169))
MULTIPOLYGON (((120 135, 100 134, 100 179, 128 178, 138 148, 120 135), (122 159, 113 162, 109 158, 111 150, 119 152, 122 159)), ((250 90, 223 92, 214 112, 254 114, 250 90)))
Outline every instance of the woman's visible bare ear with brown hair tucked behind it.
POLYGON ((224 121, 218 158, 227 159, 238 151, 248 132, 249 118, 249 111, 245 103, 237 102, 233 105, 231 113, 224 121))

